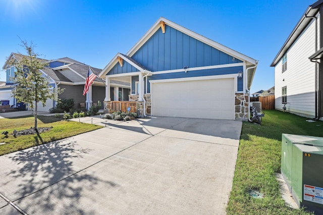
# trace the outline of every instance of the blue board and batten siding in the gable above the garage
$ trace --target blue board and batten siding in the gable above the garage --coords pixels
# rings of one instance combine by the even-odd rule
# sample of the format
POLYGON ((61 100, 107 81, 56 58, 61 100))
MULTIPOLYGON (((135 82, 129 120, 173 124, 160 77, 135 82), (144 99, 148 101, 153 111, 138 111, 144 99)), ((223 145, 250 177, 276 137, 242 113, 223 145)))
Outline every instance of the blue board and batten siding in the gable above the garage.
POLYGON ((242 62, 168 25, 164 34, 159 28, 131 58, 150 71, 242 62))

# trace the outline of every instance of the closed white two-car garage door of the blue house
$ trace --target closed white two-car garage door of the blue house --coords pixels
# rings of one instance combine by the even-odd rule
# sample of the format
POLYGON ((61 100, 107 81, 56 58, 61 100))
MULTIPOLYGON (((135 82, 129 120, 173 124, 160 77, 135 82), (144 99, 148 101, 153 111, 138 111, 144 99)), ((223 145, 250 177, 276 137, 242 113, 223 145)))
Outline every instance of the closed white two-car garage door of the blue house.
POLYGON ((153 83, 154 116, 235 119, 234 79, 153 83))

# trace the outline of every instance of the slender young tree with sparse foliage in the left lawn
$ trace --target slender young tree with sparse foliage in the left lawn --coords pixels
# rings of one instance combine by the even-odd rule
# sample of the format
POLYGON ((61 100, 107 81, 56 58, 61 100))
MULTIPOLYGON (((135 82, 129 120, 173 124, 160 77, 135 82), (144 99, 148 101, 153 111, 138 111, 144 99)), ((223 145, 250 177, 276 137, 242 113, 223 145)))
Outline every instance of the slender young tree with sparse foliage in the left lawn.
POLYGON ((15 88, 12 90, 14 97, 18 102, 28 103, 29 107, 34 108, 35 126, 37 129, 37 103, 42 102, 45 106, 47 99, 58 101, 58 95, 63 92, 62 89, 54 88, 49 85, 49 78, 43 76, 40 69, 47 66, 46 60, 40 59, 34 52, 34 45, 31 42, 22 41, 22 47, 26 50, 26 55, 22 55, 22 59, 13 60, 11 63, 16 67, 14 82, 15 88))

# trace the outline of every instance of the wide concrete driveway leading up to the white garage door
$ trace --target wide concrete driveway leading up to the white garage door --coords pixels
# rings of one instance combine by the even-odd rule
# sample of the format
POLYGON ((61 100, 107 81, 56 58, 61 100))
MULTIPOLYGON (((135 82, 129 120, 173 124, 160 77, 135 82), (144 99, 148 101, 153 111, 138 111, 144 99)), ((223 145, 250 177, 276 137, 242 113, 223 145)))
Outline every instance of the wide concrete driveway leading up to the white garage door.
POLYGON ((0 214, 226 213, 241 122, 82 120, 106 127, 0 157, 0 214))

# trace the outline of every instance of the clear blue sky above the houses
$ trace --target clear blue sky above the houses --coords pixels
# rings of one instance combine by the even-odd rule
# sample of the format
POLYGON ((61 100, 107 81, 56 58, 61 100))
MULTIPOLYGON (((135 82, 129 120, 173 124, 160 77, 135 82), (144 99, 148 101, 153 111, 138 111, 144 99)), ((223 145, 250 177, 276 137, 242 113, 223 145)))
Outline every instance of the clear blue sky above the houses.
MULTIPOLYGON (((165 17, 259 60, 254 93, 274 86, 270 64, 314 2, 0 0, 0 65, 11 52, 25 53, 20 37, 36 44, 40 57, 70 57, 103 68, 165 17)), ((0 71, 0 81, 6 81, 5 71, 0 71)))

